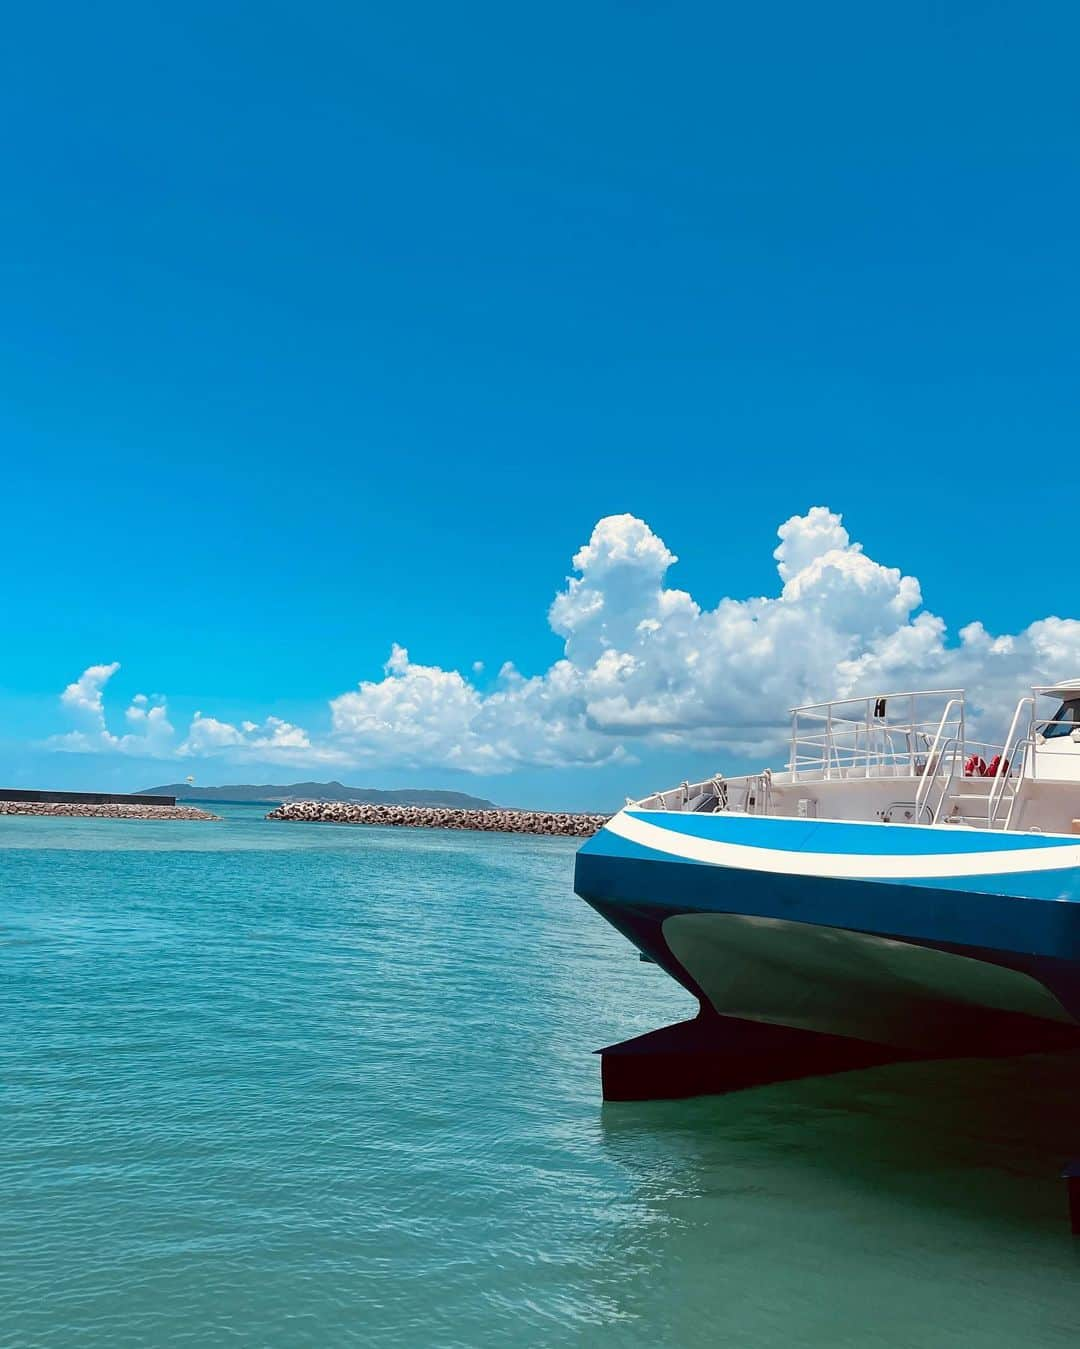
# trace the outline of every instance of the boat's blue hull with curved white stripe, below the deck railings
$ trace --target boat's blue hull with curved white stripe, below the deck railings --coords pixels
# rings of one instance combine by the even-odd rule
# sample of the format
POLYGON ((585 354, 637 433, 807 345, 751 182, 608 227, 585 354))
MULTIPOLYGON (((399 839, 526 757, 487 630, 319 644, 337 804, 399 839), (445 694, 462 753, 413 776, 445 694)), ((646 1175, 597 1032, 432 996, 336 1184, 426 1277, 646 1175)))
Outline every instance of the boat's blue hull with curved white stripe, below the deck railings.
POLYGON ((620 812, 577 893, 700 1001, 907 1050, 1080 1023, 1080 840, 620 812))

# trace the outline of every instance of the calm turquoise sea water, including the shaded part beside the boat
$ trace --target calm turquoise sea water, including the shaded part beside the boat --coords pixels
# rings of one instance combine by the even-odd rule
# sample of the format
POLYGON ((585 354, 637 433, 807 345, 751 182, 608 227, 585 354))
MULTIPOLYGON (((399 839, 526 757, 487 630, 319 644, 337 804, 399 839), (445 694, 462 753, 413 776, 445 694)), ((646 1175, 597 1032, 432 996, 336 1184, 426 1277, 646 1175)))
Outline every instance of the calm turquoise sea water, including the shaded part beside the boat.
POLYGON ((0 819, 0 1344, 1076 1345, 1080 1066, 601 1106, 573 844, 0 819))

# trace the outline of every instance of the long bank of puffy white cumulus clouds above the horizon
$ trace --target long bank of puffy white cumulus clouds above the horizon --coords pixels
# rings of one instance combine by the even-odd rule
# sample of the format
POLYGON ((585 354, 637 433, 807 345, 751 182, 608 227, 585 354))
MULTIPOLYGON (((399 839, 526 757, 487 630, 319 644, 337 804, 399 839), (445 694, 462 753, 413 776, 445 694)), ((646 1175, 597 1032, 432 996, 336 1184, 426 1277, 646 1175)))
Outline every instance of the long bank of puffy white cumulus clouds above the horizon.
POLYGON ((999 735, 1026 685, 1080 674, 1076 619, 998 635, 973 621, 953 638, 922 607, 918 580, 868 557, 837 513, 814 506, 778 537, 775 594, 702 608, 667 584, 677 557, 644 521, 599 521, 549 610, 561 657, 531 676, 507 662, 483 691, 395 643, 380 679, 330 699, 320 737, 278 718, 196 714, 177 742, 163 703, 142 695, 131 733, 109 735, 102 689, 117 666, 93 665, 62 695, 81 726, 65 739, 123 753, 136 739, 183 758, 502 773, 615 762, 649 746, 767 755, 789 707, 901 688, 965 687, 987 737, 999 735))

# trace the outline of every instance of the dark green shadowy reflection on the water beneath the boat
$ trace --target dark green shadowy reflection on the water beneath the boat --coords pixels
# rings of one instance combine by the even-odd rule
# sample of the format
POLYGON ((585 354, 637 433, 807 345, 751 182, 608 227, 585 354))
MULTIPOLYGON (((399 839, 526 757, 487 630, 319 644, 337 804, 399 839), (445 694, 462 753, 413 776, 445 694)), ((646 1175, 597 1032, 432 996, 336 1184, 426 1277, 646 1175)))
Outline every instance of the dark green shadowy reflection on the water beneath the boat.
POLYGON ((608 1246, 620 1315, 655 1333, 662 1287, 666 1344, 1067 1349, 1077 1071, 960 1059, 605 1105, 634 1199, 608 1246))

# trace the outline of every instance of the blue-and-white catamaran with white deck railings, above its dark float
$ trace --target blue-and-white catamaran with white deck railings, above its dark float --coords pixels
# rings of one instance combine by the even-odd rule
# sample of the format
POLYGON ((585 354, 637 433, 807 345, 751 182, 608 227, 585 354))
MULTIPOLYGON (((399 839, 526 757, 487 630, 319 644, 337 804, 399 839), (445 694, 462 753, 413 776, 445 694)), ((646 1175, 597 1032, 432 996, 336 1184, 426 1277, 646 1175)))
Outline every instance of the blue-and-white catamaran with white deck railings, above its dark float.
POLYGON ((698 1050, 732 1024, 901 1056, 1080 1036, 1080 680, 998 746, 957 689, 794 708, 786 769, 627 801, 574 884, 698 1000, 698 1050))

